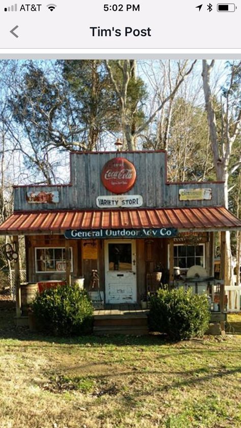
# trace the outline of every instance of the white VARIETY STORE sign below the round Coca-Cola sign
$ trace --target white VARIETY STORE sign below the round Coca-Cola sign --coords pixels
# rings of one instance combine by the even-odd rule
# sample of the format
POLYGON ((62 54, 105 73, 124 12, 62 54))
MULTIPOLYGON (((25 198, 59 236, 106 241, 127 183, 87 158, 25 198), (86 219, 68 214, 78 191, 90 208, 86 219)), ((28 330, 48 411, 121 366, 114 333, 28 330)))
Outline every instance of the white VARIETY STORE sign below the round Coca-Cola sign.
POLYGON ((141 195, 98 196, 96 205, 99 208, 136 208, 143 205, 143 198, 141 195))

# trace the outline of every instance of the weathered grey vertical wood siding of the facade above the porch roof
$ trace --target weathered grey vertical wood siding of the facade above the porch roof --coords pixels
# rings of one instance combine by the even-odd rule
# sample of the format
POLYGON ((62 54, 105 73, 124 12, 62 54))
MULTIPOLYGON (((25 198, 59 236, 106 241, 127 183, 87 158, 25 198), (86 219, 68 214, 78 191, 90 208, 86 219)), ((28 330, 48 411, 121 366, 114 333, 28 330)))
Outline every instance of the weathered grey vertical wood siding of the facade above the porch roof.
POLYGON ((143 208, 223 206, 224 185, 222 183, 166 183, 165 152, 130 153, 72 153, 71 184, 67 186, 28 186, 14 188, 15 211, 98 209, 96 198, 111 195, 102 184, 101 171, 105 163, 115 156, 130 160, 136 168, 137 179, 126 195, 142 195, 143 208), (179 189, 212 189, 209 201, 179 201, 179 189), (59 202, 55 204, 29 204, 26 193, 33 191, 58 191, 59 202))

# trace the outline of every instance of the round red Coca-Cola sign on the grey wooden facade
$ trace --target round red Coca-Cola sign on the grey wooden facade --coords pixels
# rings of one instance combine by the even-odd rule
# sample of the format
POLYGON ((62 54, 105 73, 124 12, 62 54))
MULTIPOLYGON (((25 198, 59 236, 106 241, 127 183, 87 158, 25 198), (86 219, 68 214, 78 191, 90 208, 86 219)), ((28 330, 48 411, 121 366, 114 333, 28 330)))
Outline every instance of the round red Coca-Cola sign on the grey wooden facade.
POLYGON ((102 169, 101 180, 110 192, 126 193, 135 184, 136 168, 125 158, 111 159, 102 169))

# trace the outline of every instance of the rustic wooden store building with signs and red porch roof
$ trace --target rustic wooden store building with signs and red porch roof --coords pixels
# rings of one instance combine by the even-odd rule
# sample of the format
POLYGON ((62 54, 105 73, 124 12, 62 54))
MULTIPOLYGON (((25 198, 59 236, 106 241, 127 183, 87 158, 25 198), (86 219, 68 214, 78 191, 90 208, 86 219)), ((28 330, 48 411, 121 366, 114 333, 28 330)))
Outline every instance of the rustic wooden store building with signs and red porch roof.
POLYGON ((73 152, 70 184, 14 187, 14 213, 0 234, 14 237, 17 252, 25 236, 28 282, 84 277, 88 289, 97 269, 106 304, 134 304, 155 271, 170 284, 175 267, 214 276, 215 232, 222 280, 225 231, 238 229, 224 183, 168 182, 165 151, 73 152))

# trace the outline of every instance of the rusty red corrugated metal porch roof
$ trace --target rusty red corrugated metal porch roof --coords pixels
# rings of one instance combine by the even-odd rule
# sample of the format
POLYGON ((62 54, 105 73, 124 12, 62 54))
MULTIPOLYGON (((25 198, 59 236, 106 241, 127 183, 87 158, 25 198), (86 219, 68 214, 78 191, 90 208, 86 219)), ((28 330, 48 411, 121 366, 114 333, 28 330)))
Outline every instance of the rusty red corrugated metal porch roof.
POLYGON ((62 234, 68 229, 142 227, 175 227, 179 232, 241 230, 241 220, 224 207, 19 211, 0 225, 0 235, 62 234))

